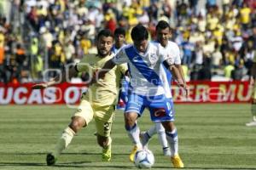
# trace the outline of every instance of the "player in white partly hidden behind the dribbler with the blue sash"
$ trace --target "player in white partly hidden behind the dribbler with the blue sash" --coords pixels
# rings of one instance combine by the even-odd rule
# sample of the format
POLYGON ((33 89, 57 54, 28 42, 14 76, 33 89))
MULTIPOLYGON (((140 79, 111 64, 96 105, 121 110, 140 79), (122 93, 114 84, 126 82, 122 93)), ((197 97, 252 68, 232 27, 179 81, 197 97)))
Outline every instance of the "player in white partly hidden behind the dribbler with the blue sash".
MULTIPOLYGON (((160 46, 160 55, 167 55, 166 58, 172 59, 174 65, 177 67, 177 70, 179 71, 179 74, 181 75, 183 79, 184 89, 186 95, 188 94, 188 88, 186 86, 185 78, 183 76, 183 69, 181 66, 181 58, 180 58, 180 51, 177 46, 177 43, 169 41, 170 37, 172 36, 172 29, 169 26, 169 24, 165 20, 160 20, 159 23, 156 26, 156 43, 160 46)), ((166 71, 166 74, 170 74, 169 71, 166 71)), ((172 83, 171 77, 169 76, 169 82, 172 83)), ((169 92, 168 92, 169 94, 169 92)), ((169 94, 172 98, 172 94, 169 94)), ((165 156, 175 156, 177 154, 177 148, 171 147, 171 152, 168 147, 168 143, 166 141, 166 133, 165 128, 162 126, 160 122, 155 122, 154 126, 150 127, 148 131, 143 132, 140 134, 142 139, 143 146, 146 146, 148 144, 149 139, 155 134, 158 133, 158 139, 160 141, 160 144, 163 148, 163 153, 165 156)), ((175 142, 177 142, 177 139, 175 139, 175 142)))

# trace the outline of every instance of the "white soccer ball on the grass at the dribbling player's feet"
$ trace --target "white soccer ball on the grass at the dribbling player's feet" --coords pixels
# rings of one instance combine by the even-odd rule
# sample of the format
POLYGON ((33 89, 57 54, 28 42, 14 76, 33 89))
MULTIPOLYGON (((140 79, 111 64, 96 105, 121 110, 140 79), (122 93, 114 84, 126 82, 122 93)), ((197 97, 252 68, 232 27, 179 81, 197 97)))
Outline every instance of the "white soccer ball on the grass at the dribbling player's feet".
POLYGON ((151 150, 137 150, 134 164, 138 168, 150 168, 154 165, 154 155, 151 150))

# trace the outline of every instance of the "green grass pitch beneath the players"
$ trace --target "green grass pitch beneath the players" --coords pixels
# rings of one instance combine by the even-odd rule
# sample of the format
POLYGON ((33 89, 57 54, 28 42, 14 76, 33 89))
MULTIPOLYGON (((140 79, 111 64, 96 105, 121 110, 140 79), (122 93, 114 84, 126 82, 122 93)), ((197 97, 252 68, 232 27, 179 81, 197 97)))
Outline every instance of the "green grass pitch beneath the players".
MULTIPOLYGON (((250 121, 249 104, 175 105, 179 153, 184 169, 256 168, 256 127, 250 121)), ((63 152, 55 167, 47 167, 46 154, 55 147, 74 109, 66 105, 0 106, 0 169, 136 169, 128 156, 132 147, 124 128, 122 111, 113 124, 113 159, 101 161, 95 125, 82 129, 63 152)), ((148 112, 139 119, 141 130, 152 125, 148 112)), ((152 169, 170 169, 157 136, 150 141, 152 169)))

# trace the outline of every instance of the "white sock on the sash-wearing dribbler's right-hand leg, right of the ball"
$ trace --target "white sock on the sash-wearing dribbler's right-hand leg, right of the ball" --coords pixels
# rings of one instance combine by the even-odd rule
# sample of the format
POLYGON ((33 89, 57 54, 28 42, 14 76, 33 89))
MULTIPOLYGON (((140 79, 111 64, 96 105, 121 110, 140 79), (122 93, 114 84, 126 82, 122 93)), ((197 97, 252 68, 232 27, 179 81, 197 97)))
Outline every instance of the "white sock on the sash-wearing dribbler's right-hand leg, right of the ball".
POLYGON ((166 131, 166 139, 170 144, 171 156, 177 155, 177 150, 178 150, 177 129, 175 128, 174 130, 172 130, 172 132, 166 131))

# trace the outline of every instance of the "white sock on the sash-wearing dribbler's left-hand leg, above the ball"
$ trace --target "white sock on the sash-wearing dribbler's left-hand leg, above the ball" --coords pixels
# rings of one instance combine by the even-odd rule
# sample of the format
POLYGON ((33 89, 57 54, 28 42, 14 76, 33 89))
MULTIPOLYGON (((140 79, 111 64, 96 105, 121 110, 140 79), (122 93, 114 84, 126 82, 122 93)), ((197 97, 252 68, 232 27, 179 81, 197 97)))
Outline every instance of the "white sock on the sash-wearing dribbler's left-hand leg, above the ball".
POLYGON ((137 145, 138 148, 142 148, 143 145, 140 141, 140 128, 137 126, 137 123, 135 123, 133 127, 125 127, 125 129, 132 143, 137 145))

